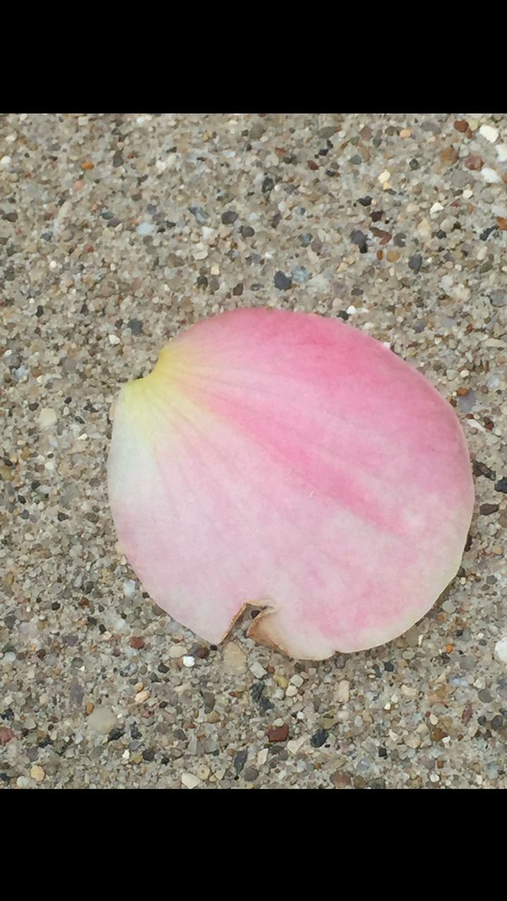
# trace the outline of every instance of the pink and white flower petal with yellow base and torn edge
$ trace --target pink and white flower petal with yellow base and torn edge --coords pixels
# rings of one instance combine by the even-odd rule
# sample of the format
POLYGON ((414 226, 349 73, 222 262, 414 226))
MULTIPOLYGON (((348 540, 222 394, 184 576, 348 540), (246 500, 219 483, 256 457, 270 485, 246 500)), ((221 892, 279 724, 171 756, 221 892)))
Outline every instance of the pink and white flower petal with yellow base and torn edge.
POLYGON ((321 660, 389 642, 459 568, 474 504, 452 407, 350 326, 267 309, 211 317, 126 385, 108 463, 127 559, 218 643, 321 660))

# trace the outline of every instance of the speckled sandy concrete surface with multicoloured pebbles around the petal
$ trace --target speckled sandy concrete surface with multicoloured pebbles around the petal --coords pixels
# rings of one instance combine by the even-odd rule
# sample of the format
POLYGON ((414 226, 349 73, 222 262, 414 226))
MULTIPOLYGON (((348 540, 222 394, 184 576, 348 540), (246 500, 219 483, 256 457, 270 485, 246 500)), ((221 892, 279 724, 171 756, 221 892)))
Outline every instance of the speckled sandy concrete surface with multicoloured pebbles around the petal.
POLYGON ((506 188, 504 115, 2 117, 2 787, 507 787, 506 188), (238 305, 348 317, 456 406, 468 550, 396 642, 210 648, 116 548, 118 387, 238 305))

